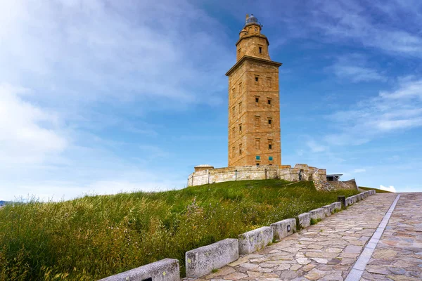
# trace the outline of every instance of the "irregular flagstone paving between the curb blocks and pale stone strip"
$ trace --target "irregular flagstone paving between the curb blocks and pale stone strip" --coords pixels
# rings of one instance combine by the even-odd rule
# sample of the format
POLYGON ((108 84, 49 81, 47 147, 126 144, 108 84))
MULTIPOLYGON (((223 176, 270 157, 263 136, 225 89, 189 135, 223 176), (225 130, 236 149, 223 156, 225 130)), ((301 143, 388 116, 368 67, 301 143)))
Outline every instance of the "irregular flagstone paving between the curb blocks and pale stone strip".
POLYGON ((216 273, 184 280, 345 280, 396 196, 373 195, 216 273))

